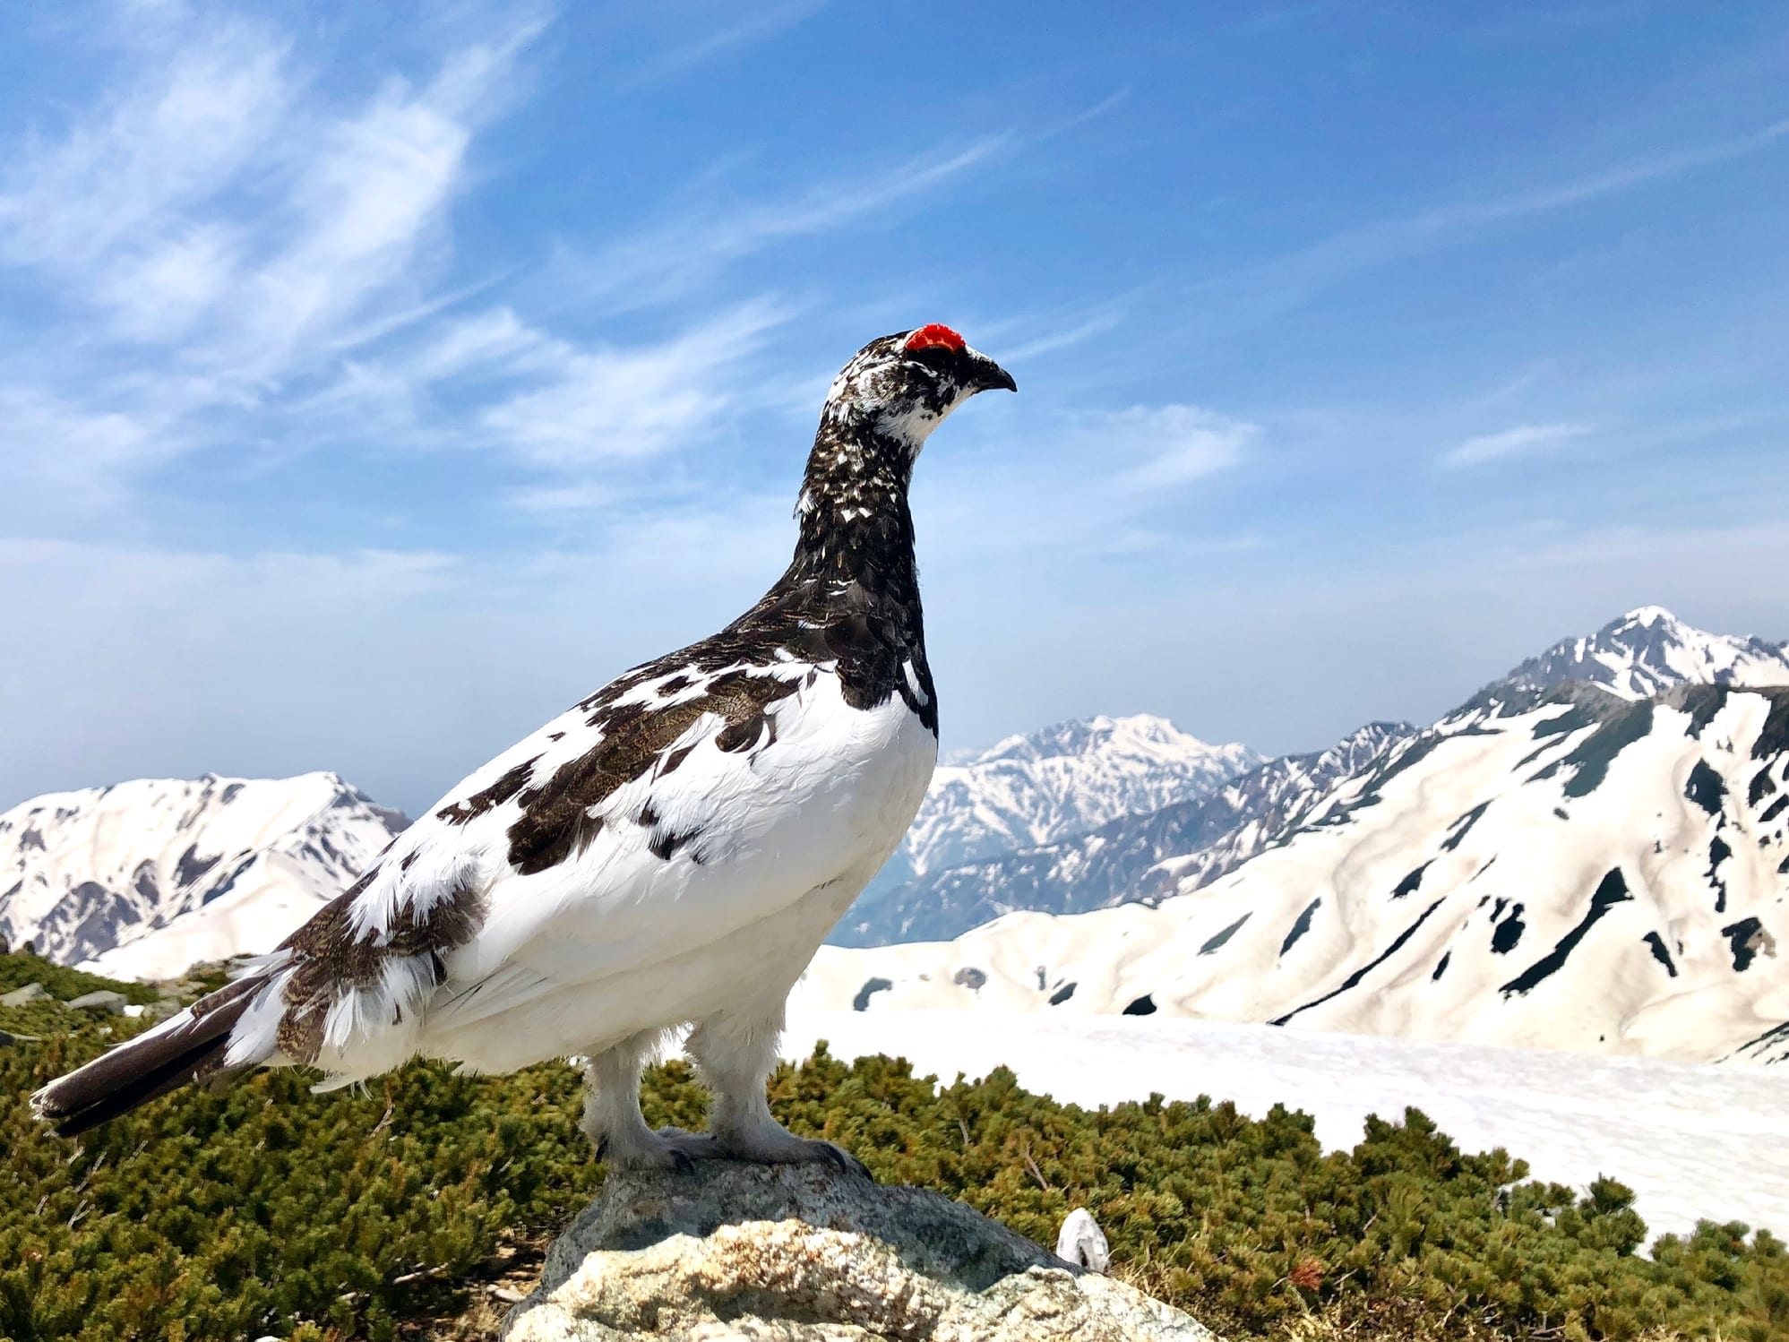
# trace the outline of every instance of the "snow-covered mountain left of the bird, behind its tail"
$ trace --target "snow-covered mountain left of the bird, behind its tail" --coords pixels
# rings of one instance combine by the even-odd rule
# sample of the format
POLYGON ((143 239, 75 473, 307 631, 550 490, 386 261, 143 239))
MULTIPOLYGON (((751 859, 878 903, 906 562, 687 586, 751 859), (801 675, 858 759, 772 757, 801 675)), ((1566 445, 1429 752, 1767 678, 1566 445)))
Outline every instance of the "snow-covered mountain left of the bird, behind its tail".
POLYGON ((0 814, 0 936, 122 979, 272 947, 408 825, 335 773, 140 778, 0 814))

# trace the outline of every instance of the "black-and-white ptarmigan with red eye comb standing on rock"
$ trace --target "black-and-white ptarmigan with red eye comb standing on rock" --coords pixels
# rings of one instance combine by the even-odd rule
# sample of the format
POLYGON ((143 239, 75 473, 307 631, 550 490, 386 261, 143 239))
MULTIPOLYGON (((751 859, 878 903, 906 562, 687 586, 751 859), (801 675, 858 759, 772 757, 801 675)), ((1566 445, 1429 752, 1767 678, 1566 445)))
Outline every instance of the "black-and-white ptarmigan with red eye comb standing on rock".
POLYGON ((619 1165, 855 1165, 764 1099, 784 1002, 900 843, 937 759, 907 481, 927 435, 1013 378, 946 326, 871 340, 832 383, 776 585, 478 769, 229 986, 36 1093, 82 1133, 195 1077, 309 1065, 322 1090, 440 1057, 590 1057, 619 1165), (646 1125, 667 1031, 714 1106, 646 1125))

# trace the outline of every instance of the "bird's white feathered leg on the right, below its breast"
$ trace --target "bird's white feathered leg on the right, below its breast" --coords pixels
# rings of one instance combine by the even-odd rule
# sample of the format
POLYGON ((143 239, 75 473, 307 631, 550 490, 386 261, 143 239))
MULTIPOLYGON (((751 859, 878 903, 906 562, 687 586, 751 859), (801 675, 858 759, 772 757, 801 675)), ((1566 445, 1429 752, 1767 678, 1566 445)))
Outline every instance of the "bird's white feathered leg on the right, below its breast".
POLYGON ((823 1163, 869 1177, 850 1152, 796 1136, 776 1122, 764 1099, 764 1083, 776 1065, 776 1038, 784 1025, 784 997, 769 1007, 735 1007, 708 1016, 691 1031, 685 1052, 714 1091, 708 1134, 716 1152, 766 1165, 823 1163))

